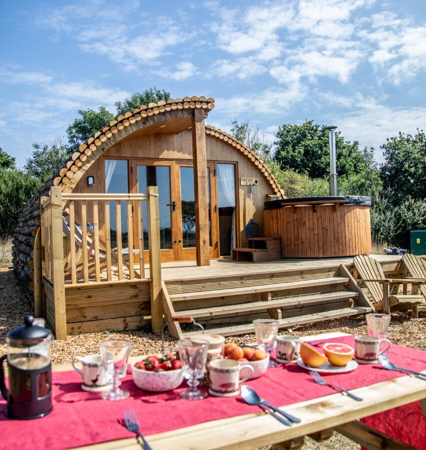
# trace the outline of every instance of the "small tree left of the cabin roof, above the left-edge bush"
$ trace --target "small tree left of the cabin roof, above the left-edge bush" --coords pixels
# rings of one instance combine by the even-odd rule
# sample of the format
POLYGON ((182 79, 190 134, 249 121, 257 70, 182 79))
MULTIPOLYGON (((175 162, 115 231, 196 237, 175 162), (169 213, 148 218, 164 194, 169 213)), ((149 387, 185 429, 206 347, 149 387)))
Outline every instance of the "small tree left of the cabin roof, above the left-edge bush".
POLYGON ((32 155, 26 160, 24 169, 42 182, 56 173, 68 156, 60 137, 47 143, 33 143, 32 148, 32 155))

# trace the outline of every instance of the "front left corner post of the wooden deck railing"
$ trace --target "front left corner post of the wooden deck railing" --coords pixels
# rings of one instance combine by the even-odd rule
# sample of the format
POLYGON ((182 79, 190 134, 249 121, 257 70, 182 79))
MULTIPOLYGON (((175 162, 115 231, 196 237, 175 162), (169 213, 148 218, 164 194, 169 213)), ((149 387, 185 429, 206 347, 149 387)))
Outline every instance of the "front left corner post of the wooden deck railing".
POLYGON ((50 188, 52 227, 52 269, 54 331, 56 339, 66 340, 65 279, 63 271, 62 243, 62 191, 59 186, 50 188))

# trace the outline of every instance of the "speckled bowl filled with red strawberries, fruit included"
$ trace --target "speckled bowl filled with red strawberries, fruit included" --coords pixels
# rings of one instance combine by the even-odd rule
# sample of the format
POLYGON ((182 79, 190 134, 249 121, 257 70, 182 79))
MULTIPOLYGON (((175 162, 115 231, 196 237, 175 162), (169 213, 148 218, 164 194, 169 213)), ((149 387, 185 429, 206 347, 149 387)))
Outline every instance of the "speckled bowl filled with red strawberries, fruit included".
POLYGON ((140 389, 164 392, 183 381, 182 362, 173 353, 151 354, 132 365, 133 381, 140 389))

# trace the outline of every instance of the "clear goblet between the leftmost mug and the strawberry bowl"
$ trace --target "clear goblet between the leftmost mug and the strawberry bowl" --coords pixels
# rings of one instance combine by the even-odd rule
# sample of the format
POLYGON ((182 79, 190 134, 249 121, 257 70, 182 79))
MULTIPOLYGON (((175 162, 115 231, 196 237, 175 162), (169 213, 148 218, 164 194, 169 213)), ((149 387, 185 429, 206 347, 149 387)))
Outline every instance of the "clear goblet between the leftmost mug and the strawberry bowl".
POLYGON ((127 359, 130 353, 132 341, 128 339, 104 339, 99 342, 102 365, 112 389, 102 392, 104 400, 122 400, 130 393, 119 389, 120 378, 126 375, 127 359))

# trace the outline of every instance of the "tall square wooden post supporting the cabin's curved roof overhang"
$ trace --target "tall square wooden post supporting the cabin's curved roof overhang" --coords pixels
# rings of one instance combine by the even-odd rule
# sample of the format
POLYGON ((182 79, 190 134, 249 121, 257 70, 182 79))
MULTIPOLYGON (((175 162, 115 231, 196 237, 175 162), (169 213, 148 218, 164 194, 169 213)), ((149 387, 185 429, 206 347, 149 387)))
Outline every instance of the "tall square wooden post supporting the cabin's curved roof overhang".
POLYGON ((194 109, 192 116, 192 157, 194 160, 195 236, 197 265, 210 265, 209 192, 204 110, 194 109))

